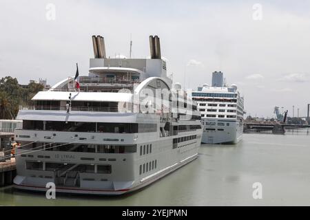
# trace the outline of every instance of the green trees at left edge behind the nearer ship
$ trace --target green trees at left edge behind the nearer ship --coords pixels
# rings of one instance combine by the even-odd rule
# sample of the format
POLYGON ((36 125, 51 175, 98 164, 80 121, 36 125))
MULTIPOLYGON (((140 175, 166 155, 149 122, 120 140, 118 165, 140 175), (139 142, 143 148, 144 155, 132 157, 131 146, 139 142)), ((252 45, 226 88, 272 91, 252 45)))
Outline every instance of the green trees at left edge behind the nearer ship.
POLYGON ((14 119, 19 105, 32 104, 32 97, 44 89, 39 83, 30 83, 21 87, 17 78, 6 76, 0 80, 0 119, 14 119))

